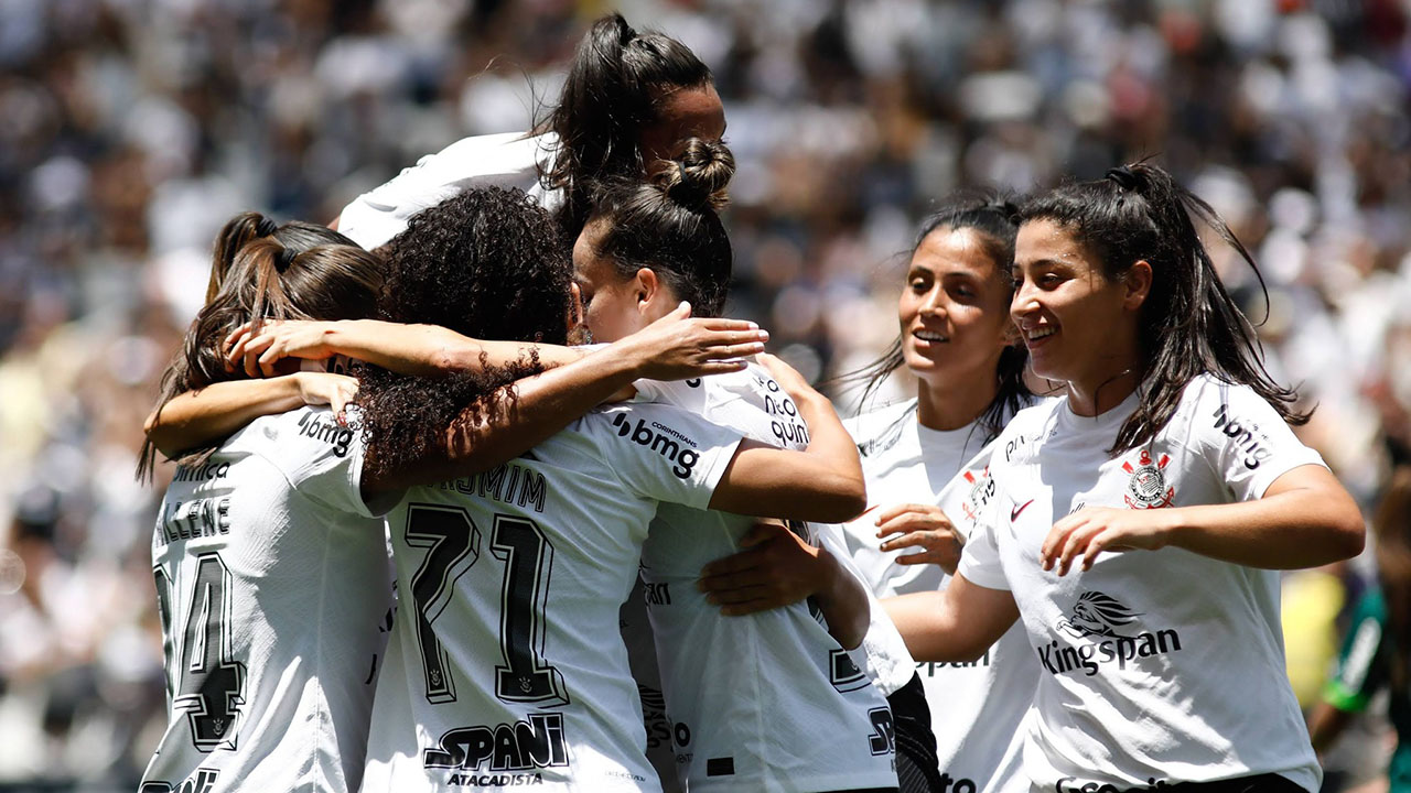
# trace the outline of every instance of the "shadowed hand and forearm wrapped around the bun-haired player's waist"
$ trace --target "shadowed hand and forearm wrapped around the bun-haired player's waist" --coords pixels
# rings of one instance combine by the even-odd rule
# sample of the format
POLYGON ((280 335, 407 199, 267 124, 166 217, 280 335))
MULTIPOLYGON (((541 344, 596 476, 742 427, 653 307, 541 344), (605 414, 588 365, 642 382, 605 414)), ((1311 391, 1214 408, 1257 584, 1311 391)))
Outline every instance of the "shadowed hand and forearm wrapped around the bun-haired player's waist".
POLYGON ((739 547, 739 553, 703 567, 697 581, 721 614, 755 614, 811 597, 840 645, 852 649, 862 643, 872 618, 868 593, 827 547, 809 545, 773 522, 755 525, 739 547))

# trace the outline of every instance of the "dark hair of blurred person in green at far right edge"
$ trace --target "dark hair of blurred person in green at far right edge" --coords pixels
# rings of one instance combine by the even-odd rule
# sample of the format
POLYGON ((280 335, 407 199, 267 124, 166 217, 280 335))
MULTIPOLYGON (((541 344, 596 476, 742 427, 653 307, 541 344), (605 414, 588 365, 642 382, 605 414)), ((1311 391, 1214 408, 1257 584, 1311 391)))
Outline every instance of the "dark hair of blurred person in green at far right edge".
POLYGON ((1373 516, 1377 576, 1387 604, 1391 690, 1404 701, 1411 690, 1411 466, 1391 471, 1373 516))

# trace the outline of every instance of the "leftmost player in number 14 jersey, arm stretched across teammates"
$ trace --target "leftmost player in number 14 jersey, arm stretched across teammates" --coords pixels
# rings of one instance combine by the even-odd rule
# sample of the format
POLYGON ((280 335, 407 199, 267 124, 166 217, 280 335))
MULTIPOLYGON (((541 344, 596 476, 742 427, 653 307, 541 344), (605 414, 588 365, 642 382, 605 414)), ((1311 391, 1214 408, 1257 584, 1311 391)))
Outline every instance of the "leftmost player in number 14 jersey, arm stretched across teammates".
POLYGON ((275 229, 254 213, 227 224, 220 243, 219 291, 164 377, 164 405, 183 392, 176 399, 189 398, 188 415, 217 413, 213 425, 183 429, 195 433, 192 444, 248 420, 238 418, 246 412, 289 412, 183 459, 158 515, 152 557, 171 724, 144 792, 356 789, 391 590, 382 522, 363 497, 404 484, 398 477, 432 481, 415 473, 432 464, 456 471, 502 461, 523 449, 515 444, 553 432, 549 422, 562 426, 560 409, 586 409, 638 374, 731 368, 680 363, 738 354, 741 336, 700 333, 700 322, 653 326, 617 350, 523 382, 512 415, 430 439, 428 459, 406 471, 384 466, 364 476, 356 429, 322 408, 279 406, 278 392, 241 389, 220 343, 251 319, 371 316, 381 261, 327 229, 275 229), (708 340, 720 343, 714 353, 708 340), (231 406, 234 419, 219 415, 231 406))

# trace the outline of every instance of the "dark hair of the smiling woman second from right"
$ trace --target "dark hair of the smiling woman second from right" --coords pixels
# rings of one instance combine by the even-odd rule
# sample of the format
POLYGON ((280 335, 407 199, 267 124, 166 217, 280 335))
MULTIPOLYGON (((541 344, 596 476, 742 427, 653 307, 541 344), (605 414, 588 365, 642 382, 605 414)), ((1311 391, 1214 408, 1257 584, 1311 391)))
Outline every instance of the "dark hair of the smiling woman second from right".
MULTIPOLYGON (((921 230, 912 244, 912 255, 921 247, 933 233, 940 230, 971 230, 981 238, 985 254, 995 262, 995 278, 1006 288, 1012 285, 1009 278, 1010 264, 1015 261, 1015 237, 1019 233, 1016 220, 1017 209, 1007 199, 999 198, 988 190, 965 190, 950 196, 941 206, 921 222, 921 230)), ((1023 344, 1009 344, 999 354, 999 365, 995 377, 999 388, 989 406, 979 416, 979 428, 985 432, 985 442, 993 440, 1009 416, 1019 412, 1033 394, 1024 385, 1024 367, 1029 363, 1029 351, 1023 344)), ((902 337, 897 336, 882 357, 855 373, 844 375, 844 381, 862 381, 862 401, 875 394, 882 382, 896 370, 902 368, 906 360, 902 354, 902 337)))

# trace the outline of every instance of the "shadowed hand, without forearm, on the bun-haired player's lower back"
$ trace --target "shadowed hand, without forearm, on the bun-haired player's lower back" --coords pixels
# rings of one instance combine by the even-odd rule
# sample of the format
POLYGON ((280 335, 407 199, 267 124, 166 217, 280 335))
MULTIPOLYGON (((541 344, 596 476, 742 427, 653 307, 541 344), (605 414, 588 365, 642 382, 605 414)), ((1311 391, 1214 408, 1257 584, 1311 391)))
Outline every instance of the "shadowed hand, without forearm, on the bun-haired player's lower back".
POLYGON ((827 586, 828 560, 787 526, 755 523, 739 546, 703 567, 696 584, 727 617, 799 603, 827 586))

